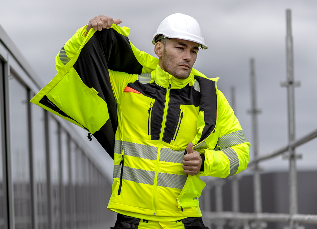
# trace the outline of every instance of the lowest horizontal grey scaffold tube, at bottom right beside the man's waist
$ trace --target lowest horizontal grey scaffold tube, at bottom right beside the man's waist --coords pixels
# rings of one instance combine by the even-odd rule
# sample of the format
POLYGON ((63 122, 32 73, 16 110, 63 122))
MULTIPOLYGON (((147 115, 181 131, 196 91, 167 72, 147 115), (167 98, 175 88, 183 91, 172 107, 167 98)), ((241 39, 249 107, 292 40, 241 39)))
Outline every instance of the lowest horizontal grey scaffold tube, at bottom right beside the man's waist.
POLYGON ((289 214, 282 213, 242 213, 242 212, 202 212, 204 218, 210 220, 262 220, 268 222, 289 222, 293 220, 299 223, 317 224, 317 215, 289 214))

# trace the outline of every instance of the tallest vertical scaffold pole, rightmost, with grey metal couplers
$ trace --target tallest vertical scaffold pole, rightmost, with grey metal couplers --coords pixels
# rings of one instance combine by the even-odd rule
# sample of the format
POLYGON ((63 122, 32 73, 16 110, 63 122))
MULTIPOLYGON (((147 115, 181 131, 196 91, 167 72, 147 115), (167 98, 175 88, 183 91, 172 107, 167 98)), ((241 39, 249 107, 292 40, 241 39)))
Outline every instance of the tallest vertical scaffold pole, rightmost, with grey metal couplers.
MULTIPOLYGON (((286 10, 286 64, 287 79, 281 86, 287 87, 288 102, 288 159, 289 159, 289 214, 291 217, 298 212, 297 206, 297 174, 296 174, 296 155, 291 143, 295 140, 295 105, 294 87, 300 86, 300 82, 294 82, 294 59, 293 59, 293 37, 291 24, 291 10, 286 10)), ((298 223, 290 220, 290 229, 299 228, 298 223)))

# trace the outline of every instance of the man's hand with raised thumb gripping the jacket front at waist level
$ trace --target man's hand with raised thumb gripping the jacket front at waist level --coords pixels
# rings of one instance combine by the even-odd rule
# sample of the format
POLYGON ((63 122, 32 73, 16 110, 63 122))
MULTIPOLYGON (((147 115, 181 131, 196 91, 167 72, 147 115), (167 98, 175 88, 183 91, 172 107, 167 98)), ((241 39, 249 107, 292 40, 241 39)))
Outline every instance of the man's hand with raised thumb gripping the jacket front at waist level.
POLYGON ((193 144, 190 142, 187 145, 187 154, 184 155, 184 160, 183 160, 183 169, 184 173, 194 176, 198 174, 202 159, 200 157, 199 152, 193 150, 193 144))

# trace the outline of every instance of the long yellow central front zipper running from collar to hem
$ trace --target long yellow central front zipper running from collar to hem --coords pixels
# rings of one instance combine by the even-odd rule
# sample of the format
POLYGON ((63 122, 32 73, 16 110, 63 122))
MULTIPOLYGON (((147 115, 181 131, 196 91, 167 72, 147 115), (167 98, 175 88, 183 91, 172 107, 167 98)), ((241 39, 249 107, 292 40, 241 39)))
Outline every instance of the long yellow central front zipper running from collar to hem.
POLYGON ((156 162, 155 162, 155 177, 154 177, 154 187, 153 187, 153 215, 156 214, 156 189, 157 189, 157 181, 158 181, 158 171, 159 171, 159 156, 161 152, 162 147, 162 139, 164 135, 165 125, 166 125, 166 116, 167 116, 167 110, 170 100, 170 90, 171 90, 171 80, 169 80, 170 85, 168 86, 168 89, 166 90, 165 95, 165 104, 164 104, 164 112, 163 112, 163 120, 162 120, 162 126, 159 134, 159 149, 158 154, 156 156, 156 162))

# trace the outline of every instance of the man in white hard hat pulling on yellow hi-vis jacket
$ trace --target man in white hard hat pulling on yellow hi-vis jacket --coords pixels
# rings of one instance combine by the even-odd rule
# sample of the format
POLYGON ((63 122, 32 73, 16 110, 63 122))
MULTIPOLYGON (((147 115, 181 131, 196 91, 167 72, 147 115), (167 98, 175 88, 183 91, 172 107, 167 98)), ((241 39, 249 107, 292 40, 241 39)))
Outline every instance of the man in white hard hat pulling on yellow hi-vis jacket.
POLYGON ((32 102, 85 128, 114 159, 113 228, 208 228, 199 176, 244 170, 250 144, 218 78, 192 68, 208 48, 201 29, 188 15, 168 16, 153 36, 156 59, 120 22, 100 15, 79 29, 32 102))

